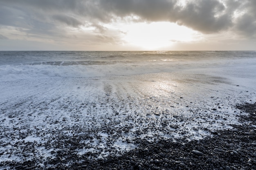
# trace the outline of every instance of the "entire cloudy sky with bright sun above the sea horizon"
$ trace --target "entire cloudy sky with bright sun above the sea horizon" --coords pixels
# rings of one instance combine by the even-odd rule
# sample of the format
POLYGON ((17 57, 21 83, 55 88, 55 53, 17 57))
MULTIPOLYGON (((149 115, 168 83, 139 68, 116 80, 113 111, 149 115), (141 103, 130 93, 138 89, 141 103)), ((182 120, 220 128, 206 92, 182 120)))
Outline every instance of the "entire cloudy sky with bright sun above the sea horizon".
POLYGON ((256 0, 0 0, 0 50, 256 50, 256 0))

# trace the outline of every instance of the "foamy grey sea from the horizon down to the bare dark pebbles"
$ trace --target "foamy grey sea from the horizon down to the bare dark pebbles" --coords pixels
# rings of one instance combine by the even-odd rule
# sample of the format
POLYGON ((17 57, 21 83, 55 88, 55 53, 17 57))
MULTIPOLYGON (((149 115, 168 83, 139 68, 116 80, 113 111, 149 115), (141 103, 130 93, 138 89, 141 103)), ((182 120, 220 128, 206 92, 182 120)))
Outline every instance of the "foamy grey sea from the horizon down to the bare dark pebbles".
POLYGON ((255 92, 256 51, 0 51, 0 160, 46 160, 75 137, 102 157, 200 140, 242 124, 255 92))

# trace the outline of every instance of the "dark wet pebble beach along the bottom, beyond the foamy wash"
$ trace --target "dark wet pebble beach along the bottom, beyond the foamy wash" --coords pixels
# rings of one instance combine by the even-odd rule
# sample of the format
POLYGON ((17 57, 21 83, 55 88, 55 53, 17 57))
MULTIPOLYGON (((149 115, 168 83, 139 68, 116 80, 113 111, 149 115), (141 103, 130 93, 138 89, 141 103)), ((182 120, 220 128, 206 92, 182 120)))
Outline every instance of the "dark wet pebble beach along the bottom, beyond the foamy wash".
MULTIPOLYGON (((241 112, 248 115, 237 115, 241 125, 231 125, 232 130, 209 131, 211 136, 204 139, 187 141, 177 139, 176 142, 166 139, 155 139, 150 142, 143 139, 135 139, 137 148, 122 155, 108 155, 97 157, 97 154, 88 152, 78 155, 72 152, 79 147, 79 138, 76 136, 66 141, 63 149, 51 152, 52 156, 46 161, 30 160, 24 162, 3 161, 0 168, 24 169, 24 170, 54 170, 54 169, 130 169, 130 170, 247 170, 256 169, 256 103, 237 105, 241 112), (75 140, 77 139, 77 140, 75 140), (95 154, 95 155, 94 155, 95 154), (92 157, 92 159, 88 159, 92 157), (93 158, 95 157, 95 158, 93 158), (83 161, 79 161, 83 160, 83 161)), ((61 137, 60 137, 61 138, 61 137)), ((81 138, 80 138, 81 139, 81 138)), ((31 143, 29 143, 31 144, 31 143)), ((57 146, 58 139, 56 139, 57 146)), ((51 143, 46 144, 52 145, 51 143)), ((33 144, 31 144, 33 146, 33 144)), ((33 147, 24 145, 23 150, 33 152, 33 147)), ((112 148, 115 149, 115 148, 112 148)), ((3 153, 0 153, 3 154, 3 153)))

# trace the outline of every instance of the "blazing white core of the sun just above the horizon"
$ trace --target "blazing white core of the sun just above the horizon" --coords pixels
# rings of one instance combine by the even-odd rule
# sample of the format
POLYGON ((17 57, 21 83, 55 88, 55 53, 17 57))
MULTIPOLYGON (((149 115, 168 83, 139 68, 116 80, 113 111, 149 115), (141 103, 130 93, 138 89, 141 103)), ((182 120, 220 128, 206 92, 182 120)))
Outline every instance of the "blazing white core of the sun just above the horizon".
POLYGON ((198 33, 171 22, 133 23, 124 27, 124 41, 145 50, 172 46, 175 42, 190 42, 198 33))

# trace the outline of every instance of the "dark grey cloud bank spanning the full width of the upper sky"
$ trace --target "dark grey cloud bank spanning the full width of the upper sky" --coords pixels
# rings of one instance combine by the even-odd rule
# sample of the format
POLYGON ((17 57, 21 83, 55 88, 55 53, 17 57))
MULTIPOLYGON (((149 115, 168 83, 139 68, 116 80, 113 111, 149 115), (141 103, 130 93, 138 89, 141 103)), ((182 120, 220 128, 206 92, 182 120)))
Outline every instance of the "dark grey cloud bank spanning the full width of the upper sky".
MULTIPOLYGON (((253 0, 2 0, 0 25, 27 29, 46 24, 45 33, 59 24, 72 27, 109 23, 136 15, 140 21, 169 21, 202 33, 231 29, 241 35, 256 34, 256 1, 253 0), (238 18, 236 13, 243 12, 238 18), (57 21, 57 22, 56 22, 57 21), (48 29, 48 30, 46 30, 48 29)), ((43 30, 41 29, 41 32, 43 30)))

